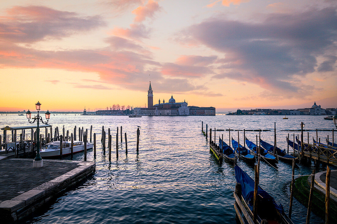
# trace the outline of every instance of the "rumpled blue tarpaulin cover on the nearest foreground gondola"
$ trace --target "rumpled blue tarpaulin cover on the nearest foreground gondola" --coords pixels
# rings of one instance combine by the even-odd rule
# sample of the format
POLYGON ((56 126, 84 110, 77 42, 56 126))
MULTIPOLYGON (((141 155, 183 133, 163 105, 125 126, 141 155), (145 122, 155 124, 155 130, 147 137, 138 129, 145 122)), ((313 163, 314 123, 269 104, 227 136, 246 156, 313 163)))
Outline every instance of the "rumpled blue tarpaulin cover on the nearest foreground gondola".
MULTIPOLYGON (((253 211, 253 201, 254 201, 254 180, 244 172, 239 166, 234 166, 234 174, 237 183, 241 184, 242 197, 247 202, 250 211, 253 211)), ((278 205, 275 199, 268 194, 267 191, 263 190, 260 186, 257 186, 257 194, 262 197, 266 202, 265 206, 273 204, 275 209, 277 209, 281 214, 284 214, 282 204, 278 205)))

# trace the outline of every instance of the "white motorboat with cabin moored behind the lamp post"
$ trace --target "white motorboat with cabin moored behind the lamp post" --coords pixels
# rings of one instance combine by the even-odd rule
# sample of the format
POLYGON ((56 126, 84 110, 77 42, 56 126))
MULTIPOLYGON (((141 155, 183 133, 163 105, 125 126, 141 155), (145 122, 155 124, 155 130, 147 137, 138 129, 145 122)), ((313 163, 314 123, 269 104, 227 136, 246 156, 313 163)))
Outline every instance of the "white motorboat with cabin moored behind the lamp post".
MULTIPOLYGON (((71 141, 62 142, 62 155, 71 153, 71 141)), ((93 148, 92 143, 87 142, 87 150, 93 148)), ((84 142, 73 141, 73 153, 84 151, 84 142)), ((50 142, 45 144, 40 150, 41 157, 60 156, 60 141, 50 142)))

